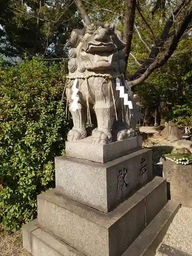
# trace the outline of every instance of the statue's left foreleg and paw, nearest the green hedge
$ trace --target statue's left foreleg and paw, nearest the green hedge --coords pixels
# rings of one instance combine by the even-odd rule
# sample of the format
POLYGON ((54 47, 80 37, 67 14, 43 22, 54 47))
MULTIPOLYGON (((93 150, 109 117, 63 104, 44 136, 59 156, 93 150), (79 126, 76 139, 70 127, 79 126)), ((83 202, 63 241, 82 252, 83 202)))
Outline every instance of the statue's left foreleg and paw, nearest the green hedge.
MULTIPOLYGON (((66 94, 69 100, 69 103, 71 105, 71 90, 66 89, 66 94)), ((87 137, 86 132, 86 121, 87 121, 87 111, 84 106, 82 106, 78 102, 78 108, 76 111, 71 111, 70 113, 72 115, 73 119, 73 128, 69 131, 67 139, 68 141, 76 141, 81 140, 87 137)))

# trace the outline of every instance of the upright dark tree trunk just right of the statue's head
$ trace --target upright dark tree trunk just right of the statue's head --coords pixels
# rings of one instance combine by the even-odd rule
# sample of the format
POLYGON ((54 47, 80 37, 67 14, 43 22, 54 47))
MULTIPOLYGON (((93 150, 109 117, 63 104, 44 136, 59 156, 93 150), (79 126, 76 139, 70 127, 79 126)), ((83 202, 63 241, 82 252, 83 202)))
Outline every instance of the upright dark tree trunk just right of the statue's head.
MULTIPOLYGON (((124 42, 126 43, 126 46, 124 48, 126 65, 129 59, 131 45, 132 45, 134 22, 135 22, 135 10, 136 10, 136 0, 126 0, 124 35, 123 35, 124 42)), ((125 74, 125 77, 126 77, 126 74, 125 74)))

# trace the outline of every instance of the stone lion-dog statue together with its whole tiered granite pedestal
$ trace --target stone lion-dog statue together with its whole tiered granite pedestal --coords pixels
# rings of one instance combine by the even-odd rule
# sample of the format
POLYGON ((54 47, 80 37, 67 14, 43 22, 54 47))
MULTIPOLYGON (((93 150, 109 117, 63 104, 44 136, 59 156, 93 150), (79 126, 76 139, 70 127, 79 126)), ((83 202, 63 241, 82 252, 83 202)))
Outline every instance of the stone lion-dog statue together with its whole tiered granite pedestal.
POLYGON ((137 135, 140 113, 123 77, 125 45, 108 23, 74 30, 69 42, 73 128, 66 155, 55 159, 56 187, 37 197, 37 219, 23 227, 24 247, 33 256, 143 255, 133 242, 166 206, 166 218, 152 225, 158 234, 159 220, 178 205, 167 206, 166 180, 153 177, 152 151, 137 135))

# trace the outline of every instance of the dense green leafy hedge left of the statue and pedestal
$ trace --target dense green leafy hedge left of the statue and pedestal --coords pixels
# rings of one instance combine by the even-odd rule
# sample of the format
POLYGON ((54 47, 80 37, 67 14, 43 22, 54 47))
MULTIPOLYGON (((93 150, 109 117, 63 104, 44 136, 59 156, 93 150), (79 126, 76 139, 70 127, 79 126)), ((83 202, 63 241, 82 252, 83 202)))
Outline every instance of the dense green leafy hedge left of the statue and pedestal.
POLYGON ((37 195, 54 186, 54 157, 69 129, 60 104, 65 73, 65 63, 35 58, 0 69, 0 223, 7 230, 33 220, 37 195))

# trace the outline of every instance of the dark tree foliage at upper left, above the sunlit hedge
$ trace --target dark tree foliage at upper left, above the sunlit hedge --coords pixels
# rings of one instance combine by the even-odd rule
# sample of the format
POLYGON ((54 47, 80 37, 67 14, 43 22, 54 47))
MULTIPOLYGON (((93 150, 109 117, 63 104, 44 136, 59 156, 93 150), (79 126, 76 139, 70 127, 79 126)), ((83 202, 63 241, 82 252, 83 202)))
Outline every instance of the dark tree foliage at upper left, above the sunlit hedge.
POLYGON ((81 25, 74 1, 0 1, 0 54, 60 59, 74 27, 81 25))

